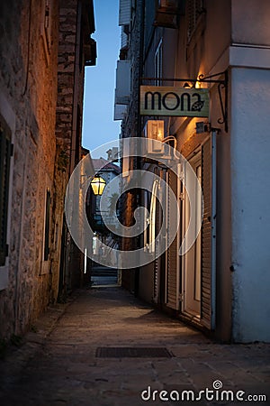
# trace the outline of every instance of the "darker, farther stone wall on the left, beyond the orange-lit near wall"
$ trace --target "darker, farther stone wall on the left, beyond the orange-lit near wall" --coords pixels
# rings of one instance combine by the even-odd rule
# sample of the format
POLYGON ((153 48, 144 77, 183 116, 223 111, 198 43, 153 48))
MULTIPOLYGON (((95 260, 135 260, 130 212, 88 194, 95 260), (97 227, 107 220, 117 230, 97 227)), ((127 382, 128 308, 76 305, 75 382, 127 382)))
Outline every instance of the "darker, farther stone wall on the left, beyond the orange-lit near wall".
MULTIPOLYGON (((91 3, 91 2, 89 2, 91 3)), ((80 160, 82 112, 84 98, 85 61, 83 45, 94 27, 87 27, 84 2, 60 0, 58 46, 58 102, 56 138, 58 169, 55 173, 57 193, 66 189, 67 180, 80 160)), ((63 210, 64 200, 59 202, 63 210)), ((60 211, 61 211, 60 210, 60 211)), ((63 218, 56 219, 62 229, 63 218)), ((77 249, 67 231, 62 235, 65 253, 60 266, 60 296, 79 287, 83 281, 84 255, 77 249)))

